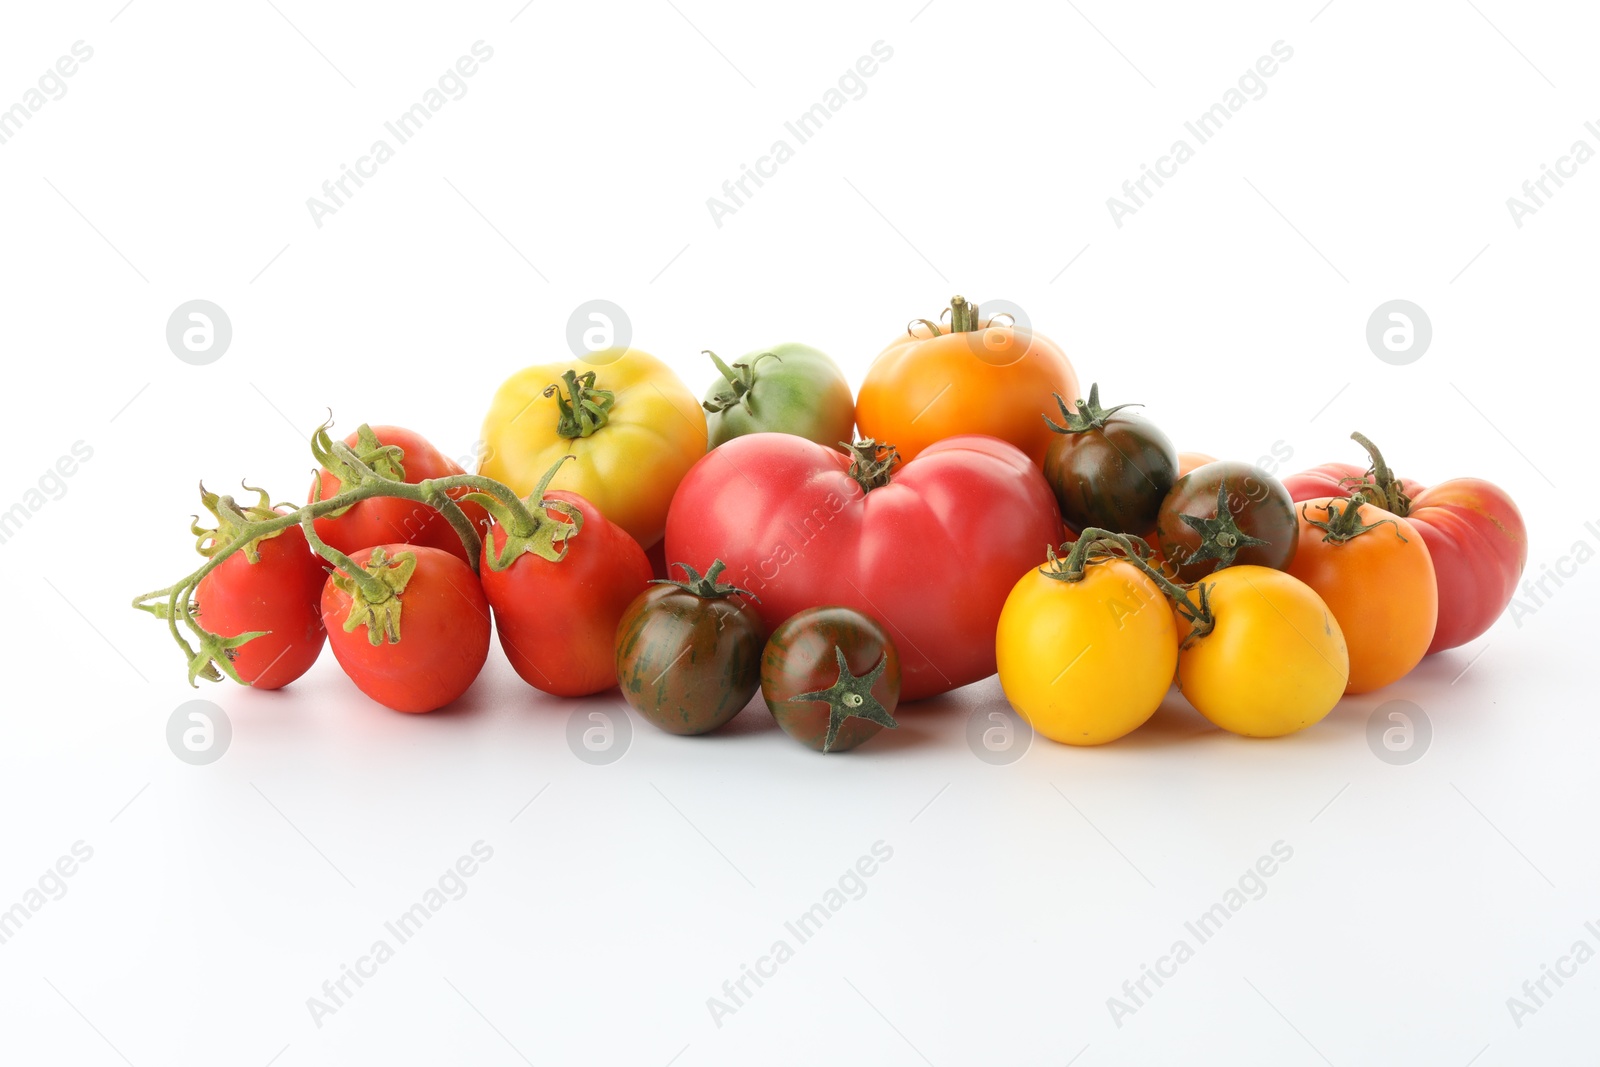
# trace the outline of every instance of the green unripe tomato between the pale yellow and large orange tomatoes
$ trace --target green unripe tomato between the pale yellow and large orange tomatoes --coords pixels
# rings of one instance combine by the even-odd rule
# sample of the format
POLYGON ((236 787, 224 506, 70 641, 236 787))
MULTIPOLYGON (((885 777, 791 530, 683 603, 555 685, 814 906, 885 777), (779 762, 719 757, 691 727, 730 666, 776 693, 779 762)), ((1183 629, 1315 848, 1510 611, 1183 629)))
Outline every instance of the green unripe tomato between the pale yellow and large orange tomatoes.
POLYGON ((854 440, 856 402, 827 354, 790 342, 757 349, 733 366, 706 355, 722 374, 702 405, 707 448, 746 434, 794 434, 829 448, 854 440))

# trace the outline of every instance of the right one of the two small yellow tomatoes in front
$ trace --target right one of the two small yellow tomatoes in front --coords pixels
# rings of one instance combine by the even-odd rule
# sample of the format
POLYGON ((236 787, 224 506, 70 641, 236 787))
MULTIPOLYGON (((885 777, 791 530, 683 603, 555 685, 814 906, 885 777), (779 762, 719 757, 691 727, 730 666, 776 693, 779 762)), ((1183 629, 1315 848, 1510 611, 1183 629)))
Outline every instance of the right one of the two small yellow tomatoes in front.
MULTIPOLYGON (((1178 689, 1195 710, 1246 737, 1322 721, 1350 677, 1344 632, 1322 597, 1270 566, 1227 566, 1200 585, 1213 627, 1178 653, 1178 689)), ((1198 603, 1198 587, 1189 598, 1198 603)), ((1197 629, 1179 619, 1181 637, 1197 629)))

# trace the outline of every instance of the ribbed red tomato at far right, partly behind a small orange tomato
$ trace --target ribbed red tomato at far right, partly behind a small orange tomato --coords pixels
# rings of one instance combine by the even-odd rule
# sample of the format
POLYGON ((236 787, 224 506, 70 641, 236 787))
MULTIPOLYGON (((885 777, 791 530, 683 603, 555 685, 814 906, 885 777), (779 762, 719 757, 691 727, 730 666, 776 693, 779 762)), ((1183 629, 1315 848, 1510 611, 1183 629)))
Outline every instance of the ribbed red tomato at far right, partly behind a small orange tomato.
POLYGON ((1482 478, 1422 486, 1395 477, 1378 448, 1352 437, 1373 456, 1366 470, 1322 464, 1283 480, 1294 502, 1349 496, 1360 488, 1378 507, 1408 518, 1427 544, 1438 579, 1438 625, 1427 653, 1458 648, 1488 630, 1517 592, 1528 565, 1528 528, 1504 490, 1482 478))

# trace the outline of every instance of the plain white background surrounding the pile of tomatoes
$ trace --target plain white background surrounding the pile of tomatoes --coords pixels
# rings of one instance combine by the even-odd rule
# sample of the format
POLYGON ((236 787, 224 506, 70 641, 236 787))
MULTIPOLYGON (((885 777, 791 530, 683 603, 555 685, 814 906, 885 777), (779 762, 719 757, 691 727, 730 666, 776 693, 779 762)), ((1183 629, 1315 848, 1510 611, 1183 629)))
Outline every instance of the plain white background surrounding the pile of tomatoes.
POLYGON ((806 341, 859 384, 952 293, 1014 301, 1179 448, 1283 442, 1294 470, 1358 461, 1360 429, 1424 482, 1507 486, 1538 576, 1600 520, 1600 163, 1522 227, 1506 198, 1600 147, 1595 21, 1318 2, 8 5, 0 106, 94 56, 0 146, 0 509, 74 442, 93 459, 0 545, 0 909, 93 859, 0 945, 0 1061, 1592 1062, 1600 963, 1522 1027, 1506 1006, 1600 947, 1589 566, 1301 736, 1174 694, 1006 766, 965 741, 994 680, 846 758, 757 704, 702 739, 635 718, 589 766, 568 717, 616 704, 542 697, 498 648, 458 707, 402 717, 331 656, 195 694, 128 608, 192 566, 197 478, 299 496, 328 408, 470 454, 592 298, 696 392, 706 347, 806 341), (477 40, 469 93, 318 229, 307 197, 477 40), (878 40, 867 93, 715 226, 707 197, 878 40), (1266 96, 1117 227, 1106 198, 1278 40, 1266 96), (165 342, 195 298, 234 325, 208 366, 165 342), (1395 298, 1434 323, 1408 366, 1363 338, 1395 298), (195 696, 234 729, 202 768, 165 741, 195 696), (1390 699, 1432 723, 1408 766, 1366 744, 1390 699), (469 893, 317 1027, 307 997, 478 840, 469 893), (866 896, 715 1025, 707 997, 880 840, 866 896), (1275 841, 1267 894, 1118 1027, 1107 997, 1275 841))

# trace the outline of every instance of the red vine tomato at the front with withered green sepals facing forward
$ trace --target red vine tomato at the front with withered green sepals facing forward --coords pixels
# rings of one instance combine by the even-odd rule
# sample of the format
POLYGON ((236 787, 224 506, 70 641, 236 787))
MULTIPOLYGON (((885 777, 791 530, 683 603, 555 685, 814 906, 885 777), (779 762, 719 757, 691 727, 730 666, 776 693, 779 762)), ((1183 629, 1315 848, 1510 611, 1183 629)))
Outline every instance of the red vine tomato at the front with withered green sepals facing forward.
POLYGON ((413 544, 349 560, 323 585, 322 621, 355 688, 397 712, 432 712, 466 693, 490 653, 490 605, 472 568, 413 544))

